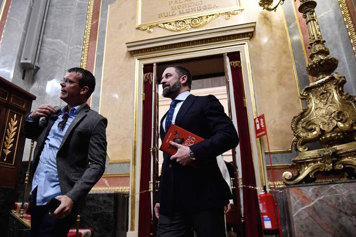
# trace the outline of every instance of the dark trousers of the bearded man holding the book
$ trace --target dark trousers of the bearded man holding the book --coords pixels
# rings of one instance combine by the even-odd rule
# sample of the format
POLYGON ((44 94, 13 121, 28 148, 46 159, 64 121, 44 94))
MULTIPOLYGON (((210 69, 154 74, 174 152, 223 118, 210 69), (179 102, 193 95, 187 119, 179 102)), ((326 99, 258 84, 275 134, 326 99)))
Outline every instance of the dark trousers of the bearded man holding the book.
POLYGON ((159 214, 157 237, 226 237, 224 209, 159 214))

